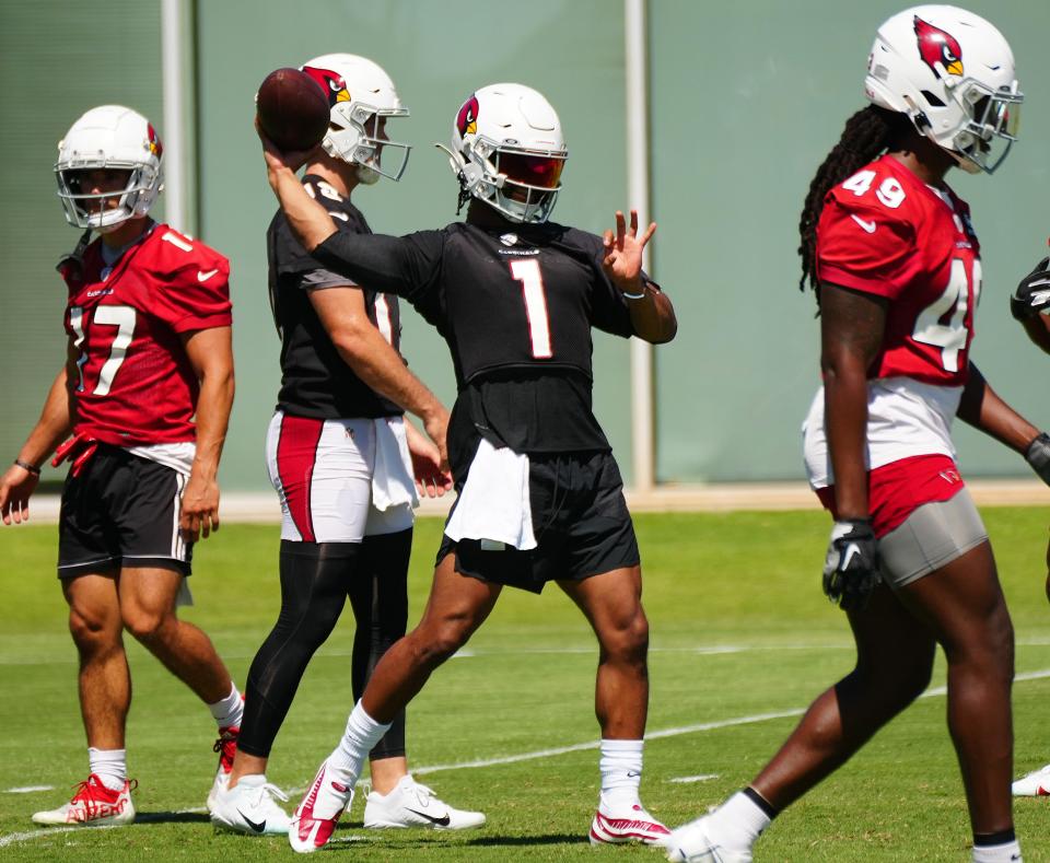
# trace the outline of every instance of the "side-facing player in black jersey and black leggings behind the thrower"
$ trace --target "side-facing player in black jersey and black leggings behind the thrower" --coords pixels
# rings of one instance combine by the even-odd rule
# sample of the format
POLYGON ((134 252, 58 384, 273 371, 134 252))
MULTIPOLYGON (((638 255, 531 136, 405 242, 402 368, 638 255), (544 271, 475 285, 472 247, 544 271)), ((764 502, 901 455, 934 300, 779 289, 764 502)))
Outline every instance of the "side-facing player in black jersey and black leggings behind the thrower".
MULTIPOLYGON (((340 231, 368 234, 350 196, 361 184, 401 175, 408 149, 388 140, 386 124, 408 109, 389 75, 364 57, 325 55, 303 70, 328 93, 331 112, 303 186, 340 231)), ((347 598, 355 625, 350 665, 357 696, 405 634, 418 502, 413 462, 421 490, 443 494, 448 482, 438 446, 401 418, 410 410, 444 443, 448 412, 398 353, 397 298, 358 287, 312 258, 280 210, 267 249, 282 341, 281 390, 266 446, 283 509, 281 611, 248 672, 233 769, 209 801, 214 825, 248 835, 288 832, 288 815, 273 800, 279 792, 266 781, 270 748, 306 664, 347 598)), ((371 783, 365 827, 485 824, 485 815, 448 806, 408 772, 404 712, 371 751, 371 783)))

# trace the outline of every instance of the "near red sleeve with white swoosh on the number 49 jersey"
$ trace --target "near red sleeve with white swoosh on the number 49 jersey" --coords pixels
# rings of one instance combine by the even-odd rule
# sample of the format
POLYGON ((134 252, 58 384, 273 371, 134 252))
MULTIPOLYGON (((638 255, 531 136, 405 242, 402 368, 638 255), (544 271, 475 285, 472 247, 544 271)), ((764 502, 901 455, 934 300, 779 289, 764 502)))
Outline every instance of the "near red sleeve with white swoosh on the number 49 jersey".
POLYGON ((817 276, 822 282, 889 299, 909 284, 915 231, 907 212, 838 189, 817 225, 817 276))

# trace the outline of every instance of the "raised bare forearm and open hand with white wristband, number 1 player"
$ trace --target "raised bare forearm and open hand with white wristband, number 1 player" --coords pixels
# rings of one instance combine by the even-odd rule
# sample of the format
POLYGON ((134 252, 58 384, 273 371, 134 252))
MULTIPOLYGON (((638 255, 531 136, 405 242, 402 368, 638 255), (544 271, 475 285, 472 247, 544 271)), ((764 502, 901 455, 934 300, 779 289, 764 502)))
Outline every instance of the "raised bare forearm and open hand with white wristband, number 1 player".
POLYGON ((667 296, 642 278, 642 250, 656 233, 650 223, 638 236, 638 211, 631 210, 630 226, 623 213, 616 212, 616 232, 605 232, 605 258, 602 266, 612 283, 628 298, 631 324, 639 338, 653 345, 670 341, 678 331, 675 310, 667 296))

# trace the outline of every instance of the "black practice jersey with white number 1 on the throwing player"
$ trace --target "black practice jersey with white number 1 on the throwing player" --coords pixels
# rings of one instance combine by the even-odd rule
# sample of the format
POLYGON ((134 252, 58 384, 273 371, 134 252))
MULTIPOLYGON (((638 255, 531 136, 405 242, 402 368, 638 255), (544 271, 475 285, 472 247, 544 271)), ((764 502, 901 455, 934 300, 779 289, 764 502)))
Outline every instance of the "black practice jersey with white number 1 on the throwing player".
POLYGON ((591 328, 631 336, 602 240, 558 224, 456 222, 405 237, 329 237, 325 266, 408 300, 448 342, 459 397, 450 456, 477 434, 517 452, 608 450, 591 406, 591 328))

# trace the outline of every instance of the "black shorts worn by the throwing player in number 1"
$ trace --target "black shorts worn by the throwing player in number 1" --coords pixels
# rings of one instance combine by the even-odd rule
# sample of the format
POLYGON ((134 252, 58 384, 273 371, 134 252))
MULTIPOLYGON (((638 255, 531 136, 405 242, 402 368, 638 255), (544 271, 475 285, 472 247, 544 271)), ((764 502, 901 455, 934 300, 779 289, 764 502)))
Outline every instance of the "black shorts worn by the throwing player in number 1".
POLYGON ((583 581, 639 564, 623 480, 611 453, 539 454, 528 462, 536 548, 490 550, 478 539, 456 543, 442 536, 439 563, 455 553, 456 572, 533 593, 549 581, 583 581))

